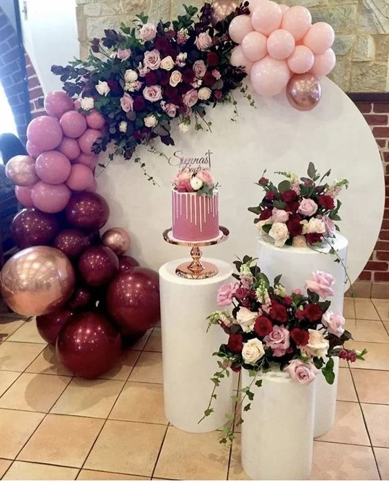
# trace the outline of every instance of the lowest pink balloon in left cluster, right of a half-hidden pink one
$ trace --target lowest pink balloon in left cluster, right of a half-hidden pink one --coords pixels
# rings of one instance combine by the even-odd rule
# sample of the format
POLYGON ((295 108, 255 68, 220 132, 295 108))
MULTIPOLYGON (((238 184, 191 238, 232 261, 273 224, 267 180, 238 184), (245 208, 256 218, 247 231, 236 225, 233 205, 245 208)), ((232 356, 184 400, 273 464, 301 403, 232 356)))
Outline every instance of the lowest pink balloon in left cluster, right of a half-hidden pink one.
POLYGON ((68 205, 71 195, 72 191, 66 184, 39 181, 32 187, 31 198, 35 208, 45 213, 59 213, 68 205))

